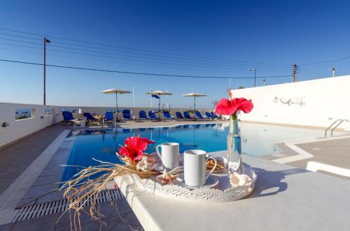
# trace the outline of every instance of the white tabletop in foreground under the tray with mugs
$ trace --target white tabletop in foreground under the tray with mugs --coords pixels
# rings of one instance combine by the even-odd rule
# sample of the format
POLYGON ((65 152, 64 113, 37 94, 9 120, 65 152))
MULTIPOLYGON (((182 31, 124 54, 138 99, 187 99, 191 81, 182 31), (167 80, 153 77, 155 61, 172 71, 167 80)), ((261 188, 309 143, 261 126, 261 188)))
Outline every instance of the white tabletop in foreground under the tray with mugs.
POLYGON ((258 181, 235 202, 173 200, 129 176, 115 180, 145 230, 350 230, 350 181, 251 156, 244 163, 256 168, 258 181))

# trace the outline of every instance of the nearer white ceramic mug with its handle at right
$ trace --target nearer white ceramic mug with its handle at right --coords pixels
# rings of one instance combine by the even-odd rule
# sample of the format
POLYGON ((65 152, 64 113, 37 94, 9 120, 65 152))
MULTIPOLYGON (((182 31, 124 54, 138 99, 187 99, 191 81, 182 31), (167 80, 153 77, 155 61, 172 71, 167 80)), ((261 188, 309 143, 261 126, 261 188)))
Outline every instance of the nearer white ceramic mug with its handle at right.
POLYGON ((208 177, 214 172, 217 162, 213 156, 207 154, 203 150, 187 150, 183 152, 184 180, 188 186, 200 187, 204 186, 208 177), (207 160, 214 160, 213 169, 207 174, 207 160))

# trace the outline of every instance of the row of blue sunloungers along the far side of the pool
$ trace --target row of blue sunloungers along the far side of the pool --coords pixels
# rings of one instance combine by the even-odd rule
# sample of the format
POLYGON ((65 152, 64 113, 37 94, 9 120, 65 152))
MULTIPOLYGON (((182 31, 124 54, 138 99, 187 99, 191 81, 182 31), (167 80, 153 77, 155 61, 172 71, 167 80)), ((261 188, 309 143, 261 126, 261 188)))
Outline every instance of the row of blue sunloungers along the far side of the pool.
MULTIPOLYGON (((174 120, 175 118, 172 117, 172 115, 169 112, 162 112, 163 114, 163 120, 174 120)), ((189 112, 176 112, 176 120, 193 120, 193 119, 200 119, 200 120, 206 120, 206 119, 218 119, 218 116, 214 112, 205 112, 205 117, 199 112, 195 112, 195 117, 191 117, 189 112)), ((104 117, 97 118, 92 116, 89 112, 84 112, 83 116, 86 118, 84 119, 87 121, 87 123, 92 123, 92 124, 100 124, 101 122, 108 123, 108 122, 114 122, 116 121, 115 115, 111 111, 107 111, 104 114, 104 117)), ((66 125, 67 123, 72 123, 74 124, 75 121, 78 121, 78 119, 75 119, 73 117, 73 114, 68 111, 62 112, 62 117, 63 120, 61 121, 62 125, 66 125)), ((130 110, 125 109, 123 110, 123 121, 127 120, 133 120, 132 114, 130 110)), ((155 116, 155 112, 149 111, 148 116, 146 114, 146 111, 141 110, 139 111, 139 120, 144 121, 144 120, 150 120, 150 121, 155 121, 158 120, 158 117, 155 116)))

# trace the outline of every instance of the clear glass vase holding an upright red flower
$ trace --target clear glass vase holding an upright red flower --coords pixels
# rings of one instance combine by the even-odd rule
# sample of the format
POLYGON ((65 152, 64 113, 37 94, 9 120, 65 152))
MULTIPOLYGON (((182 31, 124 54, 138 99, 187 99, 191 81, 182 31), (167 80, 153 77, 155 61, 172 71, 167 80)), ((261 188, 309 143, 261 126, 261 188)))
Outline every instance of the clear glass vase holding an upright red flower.
POLYGON ((230 117, 230 133, 228 133, 228 174, 242 173, 241 135, 237 119, 230 117))

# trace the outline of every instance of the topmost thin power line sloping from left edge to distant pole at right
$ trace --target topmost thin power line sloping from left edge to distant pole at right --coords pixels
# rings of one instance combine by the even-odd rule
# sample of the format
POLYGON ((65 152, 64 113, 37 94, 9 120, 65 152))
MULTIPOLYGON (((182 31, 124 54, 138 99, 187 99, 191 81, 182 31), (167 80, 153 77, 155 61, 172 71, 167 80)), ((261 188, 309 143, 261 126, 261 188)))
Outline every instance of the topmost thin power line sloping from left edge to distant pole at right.
MULTIPOLYGON (((50 38, 57 38, 60 40, 69 40, 69 41, 73 41, 76 43, 86 43, 86 44, 92 44, 92 45, 100 45, 100 46, 104 46, 104 47, 116 47, 116 48, 121 48, 121 49, 125 49, 125 50, 137 50, 137 51, 142 51, 142 52, 151 52, 151 53, 156 53, 156 54, 169 54, 172 56, 178 56, 178 57, 189 57, 189 58, 195 58, 195 59, 202 59, 202 60, 217 60, 217 61, 229 61, 229 62, 237 62, 237 63, 241 63, 241 64, 260 64, 260 65, 271 65, 271 66, 280 66, 280 67, 288 67, 286 65, 281 66, 282 64, 268 64, 268 63, 261 63, 261 62, 252 62, 252 61, 236 61, 236 60, 230 60, 230 59, 217 59, 217 58, 207 58, 207 57, 195 57, 195 56, 190 56, 190 55, 184 55, 184 54, 175 54, 175 53, 169 53, 169 52, 158 52, 158 51, 152 51, 152 50, 142 50, 142 49, 137 49, 137 48, 132 48, 132 47, 123 47, 123 46, 118 46, 118 45, 106 45, 103 43, 94 43, 94 42, 88 42, 88 41, 84 41, 84 40, 76 40, 76 39, 71 39, 71 38, 62 38, 62 37, 58 37, 58 36, 50 36, 50 35, 44 35, 41 33, 30 33, 27 31, 19 31, 19 30, 15 30, 15 29, 6 29, 6 28, 0 28, 0 30, 3 31, 13 31, 16 33, 25 33, 25 34, 30 34, 33 36, 42 36, 42 37, 50 37, 50 38)), ((59 42, 62 43, 62 42, 59 42)), ((76 45, 76 44, 71 44, 71 45, 76 45)), ((101 49, 101 47, 95 47, 97 49, 101 49)), ((149 55, 149 54, 148 54, 149 55)))

